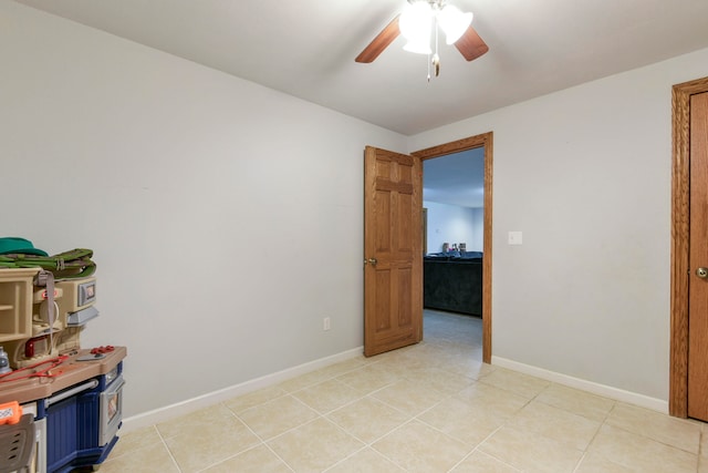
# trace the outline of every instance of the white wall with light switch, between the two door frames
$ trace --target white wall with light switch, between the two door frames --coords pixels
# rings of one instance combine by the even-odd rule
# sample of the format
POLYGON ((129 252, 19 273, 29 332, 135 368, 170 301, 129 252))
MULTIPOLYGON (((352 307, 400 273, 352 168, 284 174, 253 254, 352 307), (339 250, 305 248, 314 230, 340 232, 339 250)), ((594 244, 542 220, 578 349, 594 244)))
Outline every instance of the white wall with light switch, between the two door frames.
POLYGON ((410 137, 494 133, 496 358, 668 399, 671 85, 706 75, 701 50, 410 137))

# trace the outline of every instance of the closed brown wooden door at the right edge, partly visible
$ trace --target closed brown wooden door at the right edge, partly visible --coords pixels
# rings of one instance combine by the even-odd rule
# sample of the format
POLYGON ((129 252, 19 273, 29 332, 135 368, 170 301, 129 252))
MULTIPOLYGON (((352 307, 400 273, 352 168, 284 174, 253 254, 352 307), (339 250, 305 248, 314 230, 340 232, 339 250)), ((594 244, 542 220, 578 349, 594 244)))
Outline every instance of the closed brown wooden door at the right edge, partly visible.
POLYGON ((708 92, 690 97, 688 417, 708 421, 708 92))

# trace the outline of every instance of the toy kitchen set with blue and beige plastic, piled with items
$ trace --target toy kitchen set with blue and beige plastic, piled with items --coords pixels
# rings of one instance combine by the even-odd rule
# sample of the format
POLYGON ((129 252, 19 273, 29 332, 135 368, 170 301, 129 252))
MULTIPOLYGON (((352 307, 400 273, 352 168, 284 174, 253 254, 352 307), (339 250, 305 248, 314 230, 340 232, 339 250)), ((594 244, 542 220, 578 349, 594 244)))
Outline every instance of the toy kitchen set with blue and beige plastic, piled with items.
POLYGON ((126 349, 81 347, 82 330, 98 316, 92 251, 46 256, 19 239, 27 244, 8 254, 7 239, 0 238, 0 473, 96 469, 118 440, 126 349))

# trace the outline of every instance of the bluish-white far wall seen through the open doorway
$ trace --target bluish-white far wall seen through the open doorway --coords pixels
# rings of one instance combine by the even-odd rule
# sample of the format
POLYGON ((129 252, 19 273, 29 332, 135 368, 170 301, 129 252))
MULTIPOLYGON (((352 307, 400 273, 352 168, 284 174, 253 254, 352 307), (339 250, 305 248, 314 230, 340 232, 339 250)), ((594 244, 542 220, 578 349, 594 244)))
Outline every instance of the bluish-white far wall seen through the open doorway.
POLYGON ((442 251, 442 244, 467 244, 468 251, 482 250, 482 209, 424 200, 428 209, 428 250, 442 251))

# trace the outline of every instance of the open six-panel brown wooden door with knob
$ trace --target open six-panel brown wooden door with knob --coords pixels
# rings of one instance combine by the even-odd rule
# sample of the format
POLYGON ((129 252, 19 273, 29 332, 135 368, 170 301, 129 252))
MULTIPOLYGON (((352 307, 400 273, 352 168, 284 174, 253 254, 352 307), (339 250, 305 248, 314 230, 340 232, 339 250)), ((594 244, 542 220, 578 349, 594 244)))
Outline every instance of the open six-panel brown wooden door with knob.
POLYGON ((364 354, 423 338, 423 166, 418 157, 366 146, 364 168, 364 354))

